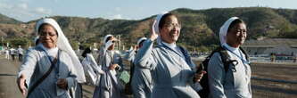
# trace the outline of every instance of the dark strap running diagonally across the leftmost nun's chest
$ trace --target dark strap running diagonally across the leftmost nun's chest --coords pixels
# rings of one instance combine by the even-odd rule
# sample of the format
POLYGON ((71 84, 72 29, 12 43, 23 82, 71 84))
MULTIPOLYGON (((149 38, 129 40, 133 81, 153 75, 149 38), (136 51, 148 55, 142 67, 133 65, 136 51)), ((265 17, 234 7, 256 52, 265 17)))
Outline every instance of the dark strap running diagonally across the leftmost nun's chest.
MULTIPOLYGON (((60 51, 60 50, 59 50, 60 51)), ((58 52, 59 53, 59 52, 58 52)), ((58 54, 59 56, 59 54, 58 54)), ((29 95, 34 91, 34 89, 39 86, 44 80, 45 78, 48 77, 48 75, 53 71, 54 69, 54 64, 58 61, 57 57, 54 58, 54 61, 51 63, 51 67, 50 69, 48 69, 46 72, 45 72, 45 75, 42 76, 41 78, 39 78, 37 80, 37 82, 35 84, 33 84, 30 88, 29 88, 29 91, 28 91, 28 94, 27 94, 27 98, 29 98, 29 95)))

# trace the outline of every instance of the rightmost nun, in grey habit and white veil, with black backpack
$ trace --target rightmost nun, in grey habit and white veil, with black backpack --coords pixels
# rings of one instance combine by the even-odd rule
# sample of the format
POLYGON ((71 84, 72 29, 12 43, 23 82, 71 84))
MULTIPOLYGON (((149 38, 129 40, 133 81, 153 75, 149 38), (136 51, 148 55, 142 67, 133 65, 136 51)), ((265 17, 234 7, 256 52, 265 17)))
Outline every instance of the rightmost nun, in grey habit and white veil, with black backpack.
POLYGON ((210 98, 252 98, 250 62, 240 49, 246 35, 246 25, 237 17, 230 18, 219 29, 220 45, 235 62, 226 71, 219 53, 210 57, 207 71, 210 98))

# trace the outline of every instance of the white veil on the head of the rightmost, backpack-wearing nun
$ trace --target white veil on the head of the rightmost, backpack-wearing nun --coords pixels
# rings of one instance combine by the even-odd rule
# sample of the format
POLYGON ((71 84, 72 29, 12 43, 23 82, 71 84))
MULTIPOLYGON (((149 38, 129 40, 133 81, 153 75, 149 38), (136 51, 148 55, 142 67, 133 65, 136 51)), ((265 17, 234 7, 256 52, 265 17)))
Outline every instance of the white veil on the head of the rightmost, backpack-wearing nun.
POLYGON ((225 21, 222 27, 219 29, 219 41, 220 45, 224 45, 226 43, 226 36, 227 36, 227 31, 229 29, 230 24, 232 21, 239 19, 238 17, 232 17, 229 20, 225 21))

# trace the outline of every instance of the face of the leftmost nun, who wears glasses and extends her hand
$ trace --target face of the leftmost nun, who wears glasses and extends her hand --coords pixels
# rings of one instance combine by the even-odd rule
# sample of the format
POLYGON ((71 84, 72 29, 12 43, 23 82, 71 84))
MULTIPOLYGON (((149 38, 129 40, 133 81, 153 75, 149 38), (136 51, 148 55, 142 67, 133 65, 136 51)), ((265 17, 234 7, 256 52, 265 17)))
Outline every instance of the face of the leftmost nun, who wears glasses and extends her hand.
POLYGON ((51 25, 43 25, 39 30, 39 40, 46 48, 54 48, 57 45, 58 35, 51 25))

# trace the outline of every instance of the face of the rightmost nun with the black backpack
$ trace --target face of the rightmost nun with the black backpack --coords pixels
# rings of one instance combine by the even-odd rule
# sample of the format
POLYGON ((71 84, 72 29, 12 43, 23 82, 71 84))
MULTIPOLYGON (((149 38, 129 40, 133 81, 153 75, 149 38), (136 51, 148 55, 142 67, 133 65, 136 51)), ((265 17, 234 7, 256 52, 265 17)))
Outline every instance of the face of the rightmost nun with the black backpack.
POLYGON ((244 23, 237 23, 227 32, 227 44, 232 47, 243 45, 246 38, 246 26, 244 23))

